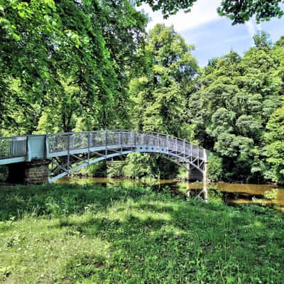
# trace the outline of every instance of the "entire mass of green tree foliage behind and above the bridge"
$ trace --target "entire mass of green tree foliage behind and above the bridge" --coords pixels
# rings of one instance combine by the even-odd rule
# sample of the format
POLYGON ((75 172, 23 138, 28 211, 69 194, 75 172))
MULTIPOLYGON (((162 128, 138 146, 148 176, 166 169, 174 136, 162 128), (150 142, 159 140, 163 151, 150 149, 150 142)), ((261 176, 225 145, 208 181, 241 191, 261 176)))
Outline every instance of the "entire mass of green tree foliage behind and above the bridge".
MULTIPOLYGON (((143 2, 167 16, 195 1, 143 2)), ((279 1, 236 2, 219 10, 233 23, 282 14, 279 1)), ((283 183, 284 38, 260 33, 244 56, 232 51, 201 69, 173 27, 146 34, 139 3, 0 0, 0 136, 158 131, 209 149, 214 180, 283 183)), ((174 177, 178 168, 133 155, 109 173, 174 177)))

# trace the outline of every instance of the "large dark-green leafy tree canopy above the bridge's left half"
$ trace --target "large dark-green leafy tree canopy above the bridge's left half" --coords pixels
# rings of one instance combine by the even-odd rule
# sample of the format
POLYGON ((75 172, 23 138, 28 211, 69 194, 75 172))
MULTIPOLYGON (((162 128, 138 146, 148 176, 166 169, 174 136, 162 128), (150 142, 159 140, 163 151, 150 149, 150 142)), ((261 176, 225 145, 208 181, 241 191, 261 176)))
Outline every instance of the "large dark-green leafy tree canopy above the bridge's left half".
POLYGON ((127 124, 146 21, 126 0, 0 0, 2 134, 127 124))

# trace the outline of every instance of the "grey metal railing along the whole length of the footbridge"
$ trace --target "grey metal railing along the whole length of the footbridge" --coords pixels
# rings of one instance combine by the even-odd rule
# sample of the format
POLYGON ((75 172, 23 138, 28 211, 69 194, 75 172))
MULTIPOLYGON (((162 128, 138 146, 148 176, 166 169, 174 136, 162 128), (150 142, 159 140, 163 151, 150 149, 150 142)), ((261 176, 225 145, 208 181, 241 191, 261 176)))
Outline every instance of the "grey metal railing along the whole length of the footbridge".
MULTIPOLYGON (((172 136, 172 135, 167 135, 164 133, 158 133, 158 132, 153 132, 153 131, 135 131, 135 130, 118 130, 118 129, 104 129, 104 130, 94 130, 94 131, 72 131, 72 132, 60 132, 60 133, 47 133, 47 134, 42 134, 47 137, 47 146, 49 149, 48 141, 50 137, 63 137, 62 141, 53 141, 55 144, 61 144, 61 147, 56 147, 53 146, 53 149, 51 152, 57 153, 58 151, 66 151, 67 148, 70 148, 70 138, 65 138, 65 137, 70 137, 74 136, 72 144, 73 147, 72 149, 77 149, 77 148, 88 148, 90 146, 108 146, 107 144, 107 139, 111 139, 112 141, 116 141, 118 137, 121 137, 121 134, 124 135, 126 134, 127 136, 130 136, 131 138, 129 139, 124 137, 124 141, 119 141, 119 143, 123 143, 124 145, 127 146, 135 146, 137 142, 137 138, 142 136, 142 141, 145 143, 144 137, 147 137, 146 143, 148 144, 148 137, 152 138, 152 143, 153 145, 157 144, 157 146, 161 147, 168 147, 168 148, 174 148, 176 147, 176 150, 179 150, 179 152, 185 152, 185 149, 187 149, 187 153, 193 151, 196 151, 196 155, 198 155, 200 158, 202 158, 202 152, 203 148, 194 145, 193 143, 188 143, 187 141, 184 141, 178 137, 172 136), (116 138, 114 138, 114 135, 109 136, 109 134, 119 134, 116 138), (83 136, 82 136, 83 134, 83 136), (92 134, 94 134, 94 137, 92 137, 92 134), (96 141, 97 135, 99 134, 99 140, 96 141), (106 134, 106 136, 104 136, 106 134), (76 140, 77 136, 77 140, 76 140), (93 138, 93 140, 89 141, 89 136, 93 138), (106 138, 105 138, 106 137, 106 138), (156 140, 157 139, 157 140, 156 140), (99 141, 99 143, 97 143, 99 141), (75 146, 75 144, 77 145, 75 146), (97 144, 96 144, 97 143, 97 144), (171 143, 171 144, 169 144, 171 143), (173 143, 175 143, 175 146, 173 146, 173 143), (170 147, 169 147, 170 146, 170 147), (58 148, 58 149, 56 149, 58 148), (189 150, 191 149, 191 151, 189 150)), ((20 156, 25 156, 27 155, 28 152, 28 146, 27 146, 27 141, 29 136, 40 136, 40 135, 25 135, 25 136, 6 136, 6 137, 0 137, 0 160, 1 159, 7 159, 7 158, 16 158, 20 156)), ((118 143, 118 144, 119 144, 118 143)), ((111 144, 109 144, 111 146, 111 144)), ((70 149, 69 149, 70 150, 70 149)))

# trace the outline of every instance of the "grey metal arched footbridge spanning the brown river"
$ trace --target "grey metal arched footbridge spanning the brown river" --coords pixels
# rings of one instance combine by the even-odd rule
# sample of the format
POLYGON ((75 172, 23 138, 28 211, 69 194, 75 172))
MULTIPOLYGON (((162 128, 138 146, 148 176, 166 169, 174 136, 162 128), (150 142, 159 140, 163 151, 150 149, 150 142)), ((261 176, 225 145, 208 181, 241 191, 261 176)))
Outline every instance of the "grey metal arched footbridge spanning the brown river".
MULTIPOLYGON (((134 152, 159 153, 187 170, 200 170, 204 190, 207 190, 206 151, 173 136, 152 132, 103 130, 0 137, 0 165, 9 165, 10 180, 17 180, 15 175, 18 175, 18 180, 25 179, 27 168, 48 165, 44 181, 54 182, 92 163, 134 152)), ((45 175, 43 167, 34 171, 33 175, 37 173, 45 175)), ((33 183, 33 179, 30 181, 33 183)), ((36 182, 40 182, 39 177, 35 178, 36 182)))

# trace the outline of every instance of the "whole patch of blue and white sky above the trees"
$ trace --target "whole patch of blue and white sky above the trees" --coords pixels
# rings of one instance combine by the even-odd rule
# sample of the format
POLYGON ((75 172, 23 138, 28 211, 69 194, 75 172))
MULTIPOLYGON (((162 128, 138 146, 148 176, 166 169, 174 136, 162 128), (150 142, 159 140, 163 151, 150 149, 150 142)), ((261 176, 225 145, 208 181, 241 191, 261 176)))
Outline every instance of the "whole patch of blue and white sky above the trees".
POLYGON ((156 23, 173 25, 188 44, 195 45, 192 54, 200 66, 207 65, 209 59, 225 55, 231 50, 243 55, 253 45, 253 35, 258 31, 266 31, 273 41, 284 35, 284 17, 273 18, 259 25, 251 19, 247 23, 232 26, 228 18, 218 15, 220 2, 221 0, 197 0, 190 13, 180 11, 166 20, 162 13, 153 12, 146 4, 139 9, 143 9, 151 18, 148 30, 156 23))

